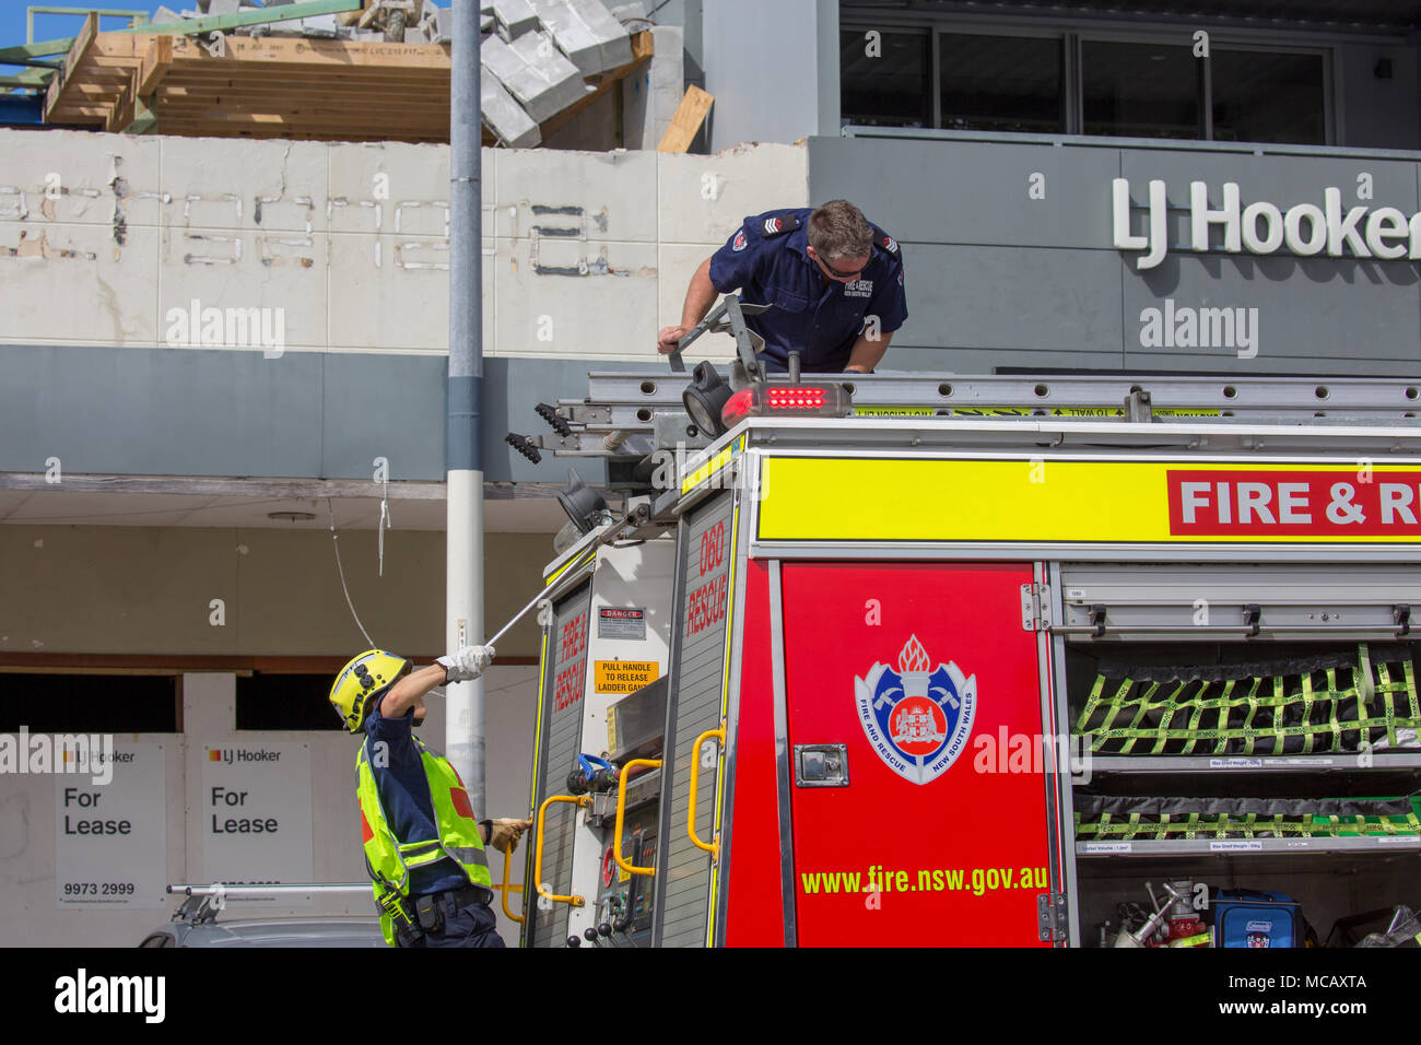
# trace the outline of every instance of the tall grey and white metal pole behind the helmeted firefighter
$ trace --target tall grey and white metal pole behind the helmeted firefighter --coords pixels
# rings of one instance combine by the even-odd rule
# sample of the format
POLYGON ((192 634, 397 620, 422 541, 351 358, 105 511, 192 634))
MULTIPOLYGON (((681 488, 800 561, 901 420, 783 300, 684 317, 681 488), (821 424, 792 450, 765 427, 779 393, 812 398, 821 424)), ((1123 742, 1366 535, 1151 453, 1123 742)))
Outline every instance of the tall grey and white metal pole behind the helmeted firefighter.
MULTIPOLYGON (((449 381, 445 427, 445 645, 483 641, 483 277, 479 1, 453 0, 449 90, 449 381)), ((445 755, 485 816, 483 682, 446 690, 445 755)))

